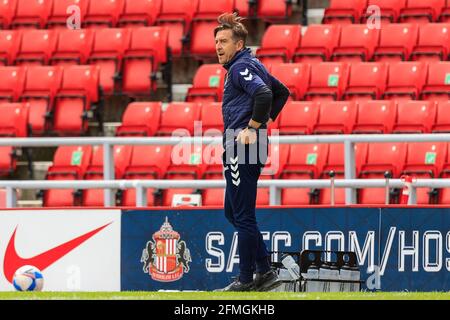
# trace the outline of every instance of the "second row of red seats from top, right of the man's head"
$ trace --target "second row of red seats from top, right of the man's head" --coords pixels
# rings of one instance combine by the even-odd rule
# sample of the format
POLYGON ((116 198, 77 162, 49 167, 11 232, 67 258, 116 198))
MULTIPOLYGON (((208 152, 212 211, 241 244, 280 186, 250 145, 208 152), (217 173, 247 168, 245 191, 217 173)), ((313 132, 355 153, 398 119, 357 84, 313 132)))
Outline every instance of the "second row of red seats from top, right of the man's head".
POLYGON ((266 65, 322 61, 445 61, 450 53, 450 24, 402 23, 370 29, 365 24, 271 25, 257 57, 266 65))

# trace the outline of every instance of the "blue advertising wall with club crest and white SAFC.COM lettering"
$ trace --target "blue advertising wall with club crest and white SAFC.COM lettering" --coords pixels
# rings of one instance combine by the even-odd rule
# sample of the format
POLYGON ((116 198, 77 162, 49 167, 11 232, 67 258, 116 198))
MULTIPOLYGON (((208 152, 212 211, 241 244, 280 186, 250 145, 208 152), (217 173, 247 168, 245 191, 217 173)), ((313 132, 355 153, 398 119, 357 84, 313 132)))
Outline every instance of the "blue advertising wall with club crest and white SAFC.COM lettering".
MULTIPOLYGON (((355 251, 371 288, 450 290, 450 208, 263 208, 257 216, 272 251, 355 251)), ((236 234, 223 210, 122 213, 122 290, 213 290, 232 281, 238 264, 236 234)))

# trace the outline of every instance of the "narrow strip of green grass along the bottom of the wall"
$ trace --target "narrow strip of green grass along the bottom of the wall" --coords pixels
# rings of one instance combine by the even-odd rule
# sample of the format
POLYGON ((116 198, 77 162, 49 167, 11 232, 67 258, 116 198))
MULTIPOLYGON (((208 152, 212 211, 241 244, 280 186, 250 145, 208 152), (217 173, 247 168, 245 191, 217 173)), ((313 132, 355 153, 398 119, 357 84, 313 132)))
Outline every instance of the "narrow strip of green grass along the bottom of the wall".
POLYGON ((0 292, 0 300, 450 300, 450 292, 0 292))

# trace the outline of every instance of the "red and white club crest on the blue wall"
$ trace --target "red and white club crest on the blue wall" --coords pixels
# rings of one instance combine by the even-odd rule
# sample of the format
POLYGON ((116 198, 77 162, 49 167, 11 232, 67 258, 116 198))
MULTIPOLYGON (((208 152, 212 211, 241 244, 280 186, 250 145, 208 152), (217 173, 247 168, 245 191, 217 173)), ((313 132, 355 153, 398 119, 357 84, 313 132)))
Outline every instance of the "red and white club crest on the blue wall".
POLYGON ((145 273, 155 281, 170 282, 181 279, 185 272, 189 272, 191 253, 186 242, 180 239, 180 234, 173 230, 167 217, 152 239, 142 251, 142 270, 145 273))

